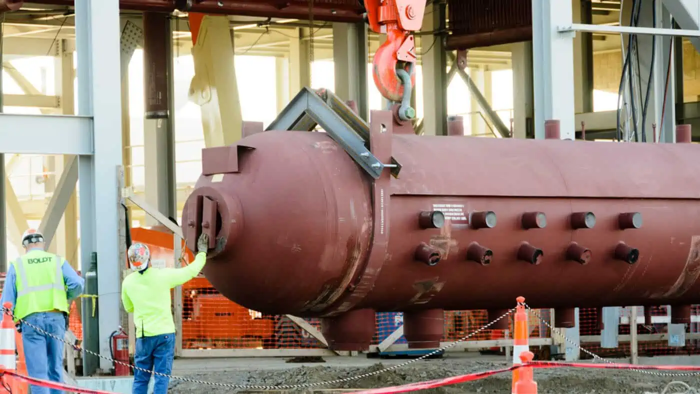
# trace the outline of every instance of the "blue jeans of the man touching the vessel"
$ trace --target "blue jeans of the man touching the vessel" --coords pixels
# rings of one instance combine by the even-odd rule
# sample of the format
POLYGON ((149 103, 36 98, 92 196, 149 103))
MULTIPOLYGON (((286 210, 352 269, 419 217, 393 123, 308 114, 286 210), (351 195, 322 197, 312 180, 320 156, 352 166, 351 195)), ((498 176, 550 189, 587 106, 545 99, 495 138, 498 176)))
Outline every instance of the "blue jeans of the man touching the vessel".
MULTIPOLYGON (((139 368, 169 375, 172 371, 174 356, 175 333, 136 339, 134 364, 139 368)), ((132 393, 147 394, 149 380, 151 380, 150 373, 134 369, 134 388, 132 393)), ((167 377, 155 375, 153 394, 166 394, 169 381, 170 379, 167 377)))

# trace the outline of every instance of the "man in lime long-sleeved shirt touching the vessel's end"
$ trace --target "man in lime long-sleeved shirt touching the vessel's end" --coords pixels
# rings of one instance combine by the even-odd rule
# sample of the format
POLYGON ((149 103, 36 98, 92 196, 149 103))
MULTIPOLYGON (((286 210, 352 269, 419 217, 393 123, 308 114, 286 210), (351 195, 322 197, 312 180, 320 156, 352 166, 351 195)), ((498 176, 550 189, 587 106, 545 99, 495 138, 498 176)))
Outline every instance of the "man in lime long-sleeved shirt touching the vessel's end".
POLYGON ((134 314, 136 353, 132 393, 146 394, 151 372, 155 375, 153 394, 166 394, 175 353, 175 323, 170 311, 170 289, 193 279, 207 262, 209 237, 202 234, 197 241, 195 261, 183 268, 151 267, 151 251, 144 244, 132 244, 127 252, 135 272, 122 283, 124 309, 134 314), (149 372, 145 372, 149 371, 149 372))

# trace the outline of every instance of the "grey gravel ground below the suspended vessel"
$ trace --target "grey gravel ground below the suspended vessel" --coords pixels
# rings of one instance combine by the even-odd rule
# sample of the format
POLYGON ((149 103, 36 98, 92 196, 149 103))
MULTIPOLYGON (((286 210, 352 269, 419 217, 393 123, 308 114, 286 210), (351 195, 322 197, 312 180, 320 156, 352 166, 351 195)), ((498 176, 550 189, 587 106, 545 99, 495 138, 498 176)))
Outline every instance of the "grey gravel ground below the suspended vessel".
MULTIPOLYGON (((393 363, 395 364, 395 362, 393 363)), ((471 372, 482 372, 507 367, 507 363, 499 361, 484 361, 478 359, 444 358, 442 360, 419 361, 416 364, 401 367, 398 370, 384 372, 372 377, 349 381, 335 386, 322 388, 380 388, 400 384, 426 381, 451 377, 471 372)), ((293 368, 261 369, 255 365, 197 371, 187 374, 188 377, 202 381, 216 381, 226 384, 246 384, 276 386, 279 384, 304 384, 317 381, 328 381, 353 377, 367 372, 381 370, 386 367, 381 360, 368 367, 337 367, 323 364, 302 365, 293 368)), ((182 376, 182 375, 181 375, 182 376)), ((447 386, 421 393, 509 393, 510 373, 496 375, 480 381, 456 386, 447 386)), ((535 381, 538 383, 540 394, 598 394, 598 393, 662 393, 671 381, 685 381, 700 392, 700 377, 655 377, 640 372, 618 370, 581 370, 557 369, 535 370, 535 381)), ((171 380, 170 393, 232 393, 229 388, 207 387, 183 381, 171 380)), ((239 391, 240 393, 260 393, 260 391, 239 391)), ((274 393, 280 393, 275 391, 274 393)), ((309 391, 284 391, 284 393, 309 393, 309 391)), ((317 392, 320 393, 320 392, 317 392)), ((682 386, 674 386, 664 394, 696 393, 687 391, 682 386)))

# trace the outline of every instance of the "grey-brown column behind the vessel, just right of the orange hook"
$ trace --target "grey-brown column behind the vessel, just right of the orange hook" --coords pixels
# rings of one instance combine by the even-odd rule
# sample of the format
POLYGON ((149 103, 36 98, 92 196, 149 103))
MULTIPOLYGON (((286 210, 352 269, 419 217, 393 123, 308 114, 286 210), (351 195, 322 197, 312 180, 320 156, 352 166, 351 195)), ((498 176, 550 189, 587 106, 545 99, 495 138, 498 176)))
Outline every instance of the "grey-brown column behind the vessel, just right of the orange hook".
POLYGON ((435 1, 426 10, 423 30, 434 36, 421 37, 423 60, 423 130, 425 135, 447 135, 447 53, 444 29, 447 4, 435 1))

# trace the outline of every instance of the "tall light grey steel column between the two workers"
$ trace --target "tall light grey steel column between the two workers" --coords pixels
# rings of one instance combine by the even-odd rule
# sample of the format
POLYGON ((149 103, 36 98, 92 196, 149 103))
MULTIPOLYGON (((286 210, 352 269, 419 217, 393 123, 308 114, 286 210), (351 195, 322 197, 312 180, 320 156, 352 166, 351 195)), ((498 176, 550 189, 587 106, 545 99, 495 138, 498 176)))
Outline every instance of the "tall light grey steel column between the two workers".
POLYGON ((78 113, 92 115, 94 155, 79 157, 83 272, 97 252, 100 367, 112 367, 109 337, 120 323, 118 167, 122 164, 118 0, 76 0, 78 113), (97 196, 99 193, 99 198, 97 196), (99 218, 99 220, 98 220, 99 218))

